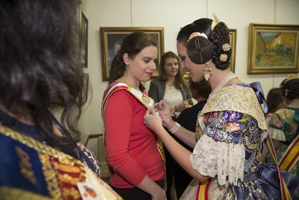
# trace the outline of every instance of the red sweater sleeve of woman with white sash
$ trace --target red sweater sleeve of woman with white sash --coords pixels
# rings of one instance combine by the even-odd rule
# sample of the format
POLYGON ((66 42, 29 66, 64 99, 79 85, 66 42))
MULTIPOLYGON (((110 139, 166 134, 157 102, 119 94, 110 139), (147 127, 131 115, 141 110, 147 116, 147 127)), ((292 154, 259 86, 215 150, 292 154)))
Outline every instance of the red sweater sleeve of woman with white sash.
POLYGON ((139 185, 145 172, 128 154, 132 124, 133 104, 131 94, 116 91, 105 108, 106 150, 109 164, 129 183, 139 185))

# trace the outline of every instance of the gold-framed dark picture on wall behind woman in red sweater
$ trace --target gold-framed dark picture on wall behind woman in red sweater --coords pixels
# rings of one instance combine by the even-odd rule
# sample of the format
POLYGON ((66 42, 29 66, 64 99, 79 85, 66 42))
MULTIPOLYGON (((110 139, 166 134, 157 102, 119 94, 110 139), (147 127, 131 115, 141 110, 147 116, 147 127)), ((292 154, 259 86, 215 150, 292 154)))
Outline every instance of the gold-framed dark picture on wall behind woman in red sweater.
POLYGON ((133 32, 144 32, 150 34, 158 42, 157 69, 152 78, 158 77, 158 67, 161 56, 164 53, 164 28, 154 27, 100 27, 101 55, 103 81, 109 80, 109 70, 116 52, 120 48, 123 38, 133 32))

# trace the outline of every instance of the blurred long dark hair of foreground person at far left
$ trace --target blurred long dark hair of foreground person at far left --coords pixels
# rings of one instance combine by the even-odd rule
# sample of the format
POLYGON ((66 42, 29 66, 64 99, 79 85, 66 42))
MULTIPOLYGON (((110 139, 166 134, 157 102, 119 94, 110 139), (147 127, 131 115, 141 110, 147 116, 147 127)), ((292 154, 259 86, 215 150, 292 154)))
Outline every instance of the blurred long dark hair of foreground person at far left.
POLYGON ((42 138, 61 149, 74 149, 69 147, 76 141, 54 134, 49 108, 62 108, 62 123, 79 133, 77 97, 84 74, 73 46, 79 3, 0 1, 1 103, 8 112, 32 118, 42 138))

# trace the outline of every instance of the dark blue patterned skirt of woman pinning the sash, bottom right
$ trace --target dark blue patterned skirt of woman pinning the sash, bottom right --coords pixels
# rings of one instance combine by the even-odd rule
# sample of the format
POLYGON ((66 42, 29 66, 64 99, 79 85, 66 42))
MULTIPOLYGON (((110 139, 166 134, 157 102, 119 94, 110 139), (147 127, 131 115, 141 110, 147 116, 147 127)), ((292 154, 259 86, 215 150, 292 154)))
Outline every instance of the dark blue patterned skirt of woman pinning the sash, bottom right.
MULTIPOLYGON (((299 179, 281 170, 283 180, 292 199, 299 199, 299 179)), ((243 182, 237 185, 227 182, 219 185, 217 177, 209 178, 205 183, 193 179, 180 200, 219 200, 219 199, 281 199, 280 182, 274 165, 260 164, 256 172, 244 175, 243 182)))

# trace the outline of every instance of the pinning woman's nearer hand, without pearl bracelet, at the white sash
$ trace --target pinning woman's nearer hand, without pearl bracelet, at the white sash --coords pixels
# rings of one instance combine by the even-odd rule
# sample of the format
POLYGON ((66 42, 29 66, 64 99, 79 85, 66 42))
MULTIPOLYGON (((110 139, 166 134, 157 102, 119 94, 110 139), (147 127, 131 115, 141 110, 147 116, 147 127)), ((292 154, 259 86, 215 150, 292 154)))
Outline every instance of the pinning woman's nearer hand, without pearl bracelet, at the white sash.
POLYGON ((159 129, 163 128, 162 126, 163 118, 164 118, 163 116, 159 116, 156 113, 155 109, 152 106, 150 106, 149 110, 147 110, 147 112, 143 117, 144 119, 143 123, 158 135, 158 133, 160 132, 159 129))

